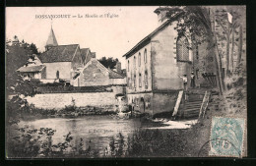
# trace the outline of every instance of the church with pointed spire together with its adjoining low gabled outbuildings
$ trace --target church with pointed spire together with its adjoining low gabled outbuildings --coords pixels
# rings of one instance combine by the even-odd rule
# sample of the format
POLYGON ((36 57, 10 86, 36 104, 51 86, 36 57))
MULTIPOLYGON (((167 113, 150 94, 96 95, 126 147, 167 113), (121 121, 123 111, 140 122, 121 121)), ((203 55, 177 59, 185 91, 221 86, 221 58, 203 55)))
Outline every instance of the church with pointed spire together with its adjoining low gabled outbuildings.
POLYGON ((79 44, 59 45, 52 27, 45 51, 32 56, 32 63, 17 70, 24 79, 38 79, 41 83, 62 80, 73 86, 126 84, 120 62, 114 71, 101 65, 90 48, 80 48, 79 44))

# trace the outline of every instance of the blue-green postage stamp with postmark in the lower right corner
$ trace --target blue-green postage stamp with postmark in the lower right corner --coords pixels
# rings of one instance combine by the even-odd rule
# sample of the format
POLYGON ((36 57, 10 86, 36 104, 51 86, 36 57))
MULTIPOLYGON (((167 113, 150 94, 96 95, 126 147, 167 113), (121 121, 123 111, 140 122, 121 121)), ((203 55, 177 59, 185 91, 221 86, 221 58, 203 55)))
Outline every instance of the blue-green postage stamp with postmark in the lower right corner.
POLYGON ((242 118, 213 117, 210 156, 242 156, 245 120, 242 118))

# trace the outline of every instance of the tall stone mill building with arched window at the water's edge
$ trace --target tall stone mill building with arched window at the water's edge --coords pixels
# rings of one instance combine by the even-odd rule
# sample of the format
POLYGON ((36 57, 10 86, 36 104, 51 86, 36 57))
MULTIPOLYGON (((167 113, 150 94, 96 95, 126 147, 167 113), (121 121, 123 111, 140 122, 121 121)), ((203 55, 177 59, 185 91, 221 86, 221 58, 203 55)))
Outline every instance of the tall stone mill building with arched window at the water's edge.
POLYGON ((152 115, 171 111, 178 90, 183 89, 181 76, 187 75, 190 86, 191 72, 196 74, 196 85, 205 80, 206 44, 192 50, 189 37, 178 35, 178 14, 166 19, 167 9, 158 8, 159 28, 143 38, 123 57, 126 58, 127 99, 141 112, 152 115), (200 58, 199 58, 200 57, 200 58))

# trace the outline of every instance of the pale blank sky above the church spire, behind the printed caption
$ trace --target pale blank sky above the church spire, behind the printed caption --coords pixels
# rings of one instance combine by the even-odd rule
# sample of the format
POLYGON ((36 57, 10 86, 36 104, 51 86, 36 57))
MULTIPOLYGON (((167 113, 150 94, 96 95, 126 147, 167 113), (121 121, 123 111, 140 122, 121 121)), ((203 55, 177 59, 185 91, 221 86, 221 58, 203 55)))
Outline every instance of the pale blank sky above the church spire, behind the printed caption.
POLYGON ((158 28, 158 16, 154 13, 157 8, 8 7, 6 37, 13 39, 17 35, 20 41, 34 43, 42 52, 52 25, 59 45, 79 44, 80 48, 90 48, 96 52, 97 59, 103 56, 118 58, 124 69, 122 56, 158 28), (39 18, 42 15, 69 15, 70 18, 39 18), (113 17, 108 17, 110 15, 113 17))

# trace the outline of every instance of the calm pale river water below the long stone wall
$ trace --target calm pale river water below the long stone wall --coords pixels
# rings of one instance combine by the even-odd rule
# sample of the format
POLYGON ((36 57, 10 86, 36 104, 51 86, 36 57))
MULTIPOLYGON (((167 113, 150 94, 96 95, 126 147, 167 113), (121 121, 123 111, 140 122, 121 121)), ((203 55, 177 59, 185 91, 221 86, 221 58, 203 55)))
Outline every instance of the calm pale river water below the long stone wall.
MULTIPOLYGON (((120 134, 123 136, 124 142, 127 142, 128 136, 132 136, 141 128, 156 126, 156 123, 145 123, 140 119, 114 119, 110 116, 85 116, 80 118, 48 118, 30 121, 21 121, 19 127, 40 129, 50 128, 56 130, 52 136, 52 143, 64 141, 64 136, 70 132, 73 137, 72 146, 78 146, 83 138, 83 148, 92 148, 99 151, 99 155, 105 155, 106 149, 109 151, 109 142, 117 140, 120 134)), ((160 126, 160 125, 157 125, 160 126)), ((17 136, 18 131, 12 130, 12 135, 17 136)), ((71 149, 68 150, 72 151, 71 149)))

